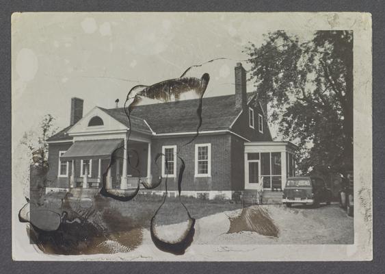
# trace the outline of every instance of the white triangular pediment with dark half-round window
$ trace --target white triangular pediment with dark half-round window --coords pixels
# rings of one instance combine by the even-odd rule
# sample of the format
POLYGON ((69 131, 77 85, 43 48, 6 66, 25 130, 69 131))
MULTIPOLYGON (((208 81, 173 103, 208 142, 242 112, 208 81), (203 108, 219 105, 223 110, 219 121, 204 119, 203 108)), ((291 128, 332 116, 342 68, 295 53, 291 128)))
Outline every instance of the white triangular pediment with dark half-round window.
POLYGON ((74 135, 88 135, 88 134, 103 134, 107 132, 122 132, 127 130, 127 127, 114 119, 112 116, 104 112, 98 107, 92 108, 90 112, 85 114, 75 125, 68 130, 68 134, 74 135), (102 119, 103 125, 89 125, 90 120, 98 116, 102 119))

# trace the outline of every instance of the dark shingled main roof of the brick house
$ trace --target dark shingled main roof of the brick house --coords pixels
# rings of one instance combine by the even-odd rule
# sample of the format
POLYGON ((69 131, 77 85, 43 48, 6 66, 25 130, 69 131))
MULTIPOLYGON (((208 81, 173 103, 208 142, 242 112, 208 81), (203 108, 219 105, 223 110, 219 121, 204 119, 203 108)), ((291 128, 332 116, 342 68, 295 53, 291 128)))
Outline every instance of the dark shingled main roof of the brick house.
MULTIPOLYGON (((248 93, 248 100, 254 92, 248 93)), ((137 105, 131 114, 131 125, 133 130, 150 133, 151 129, 157 134, 174 132, 195 132, 198 127, 199 99, 173 101, 168 103, 155 103, 150 105, 137 105)), ((124 108, 100 108, 114 119, 128 125, 128 119, 124 108)), ((229 129, 231 123, 237 118, 239 112, 235 110, 235 95, 224 95, 219 97, 207 97, 202 100, 202 125, 200 131, 229 129)), ((58 132, 51 140, 71 139, 66 136, 70 127, 58 132), (65 138, 64 138, 65 137, 65 138)))

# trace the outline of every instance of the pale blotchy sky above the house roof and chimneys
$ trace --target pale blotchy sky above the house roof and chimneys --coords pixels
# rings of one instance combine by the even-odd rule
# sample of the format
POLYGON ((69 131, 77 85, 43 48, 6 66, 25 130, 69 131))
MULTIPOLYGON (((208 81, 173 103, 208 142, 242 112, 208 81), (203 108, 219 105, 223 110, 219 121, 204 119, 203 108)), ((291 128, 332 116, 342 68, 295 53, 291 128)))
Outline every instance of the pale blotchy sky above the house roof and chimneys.
MULTIPOLYGON (((286 27, 309 33, 303 23, 287 19, 286 27)), ((12 139, 36 129, 44 114, 56 118, 55 126, 68 126, 71 97, 84 99, 83 114, 95 105, 114 108, 133 86, 179 77, 213 58, 228 60, 191 69, 187 76, 209 73, 205 97, 233 94, 234 66, 248 59, 245 47, 261 45, 263 34, 277 29, 282 23, 267 14, 13 14, 12 139)), ((248 92, 254 90, 249 81, 248 92)))

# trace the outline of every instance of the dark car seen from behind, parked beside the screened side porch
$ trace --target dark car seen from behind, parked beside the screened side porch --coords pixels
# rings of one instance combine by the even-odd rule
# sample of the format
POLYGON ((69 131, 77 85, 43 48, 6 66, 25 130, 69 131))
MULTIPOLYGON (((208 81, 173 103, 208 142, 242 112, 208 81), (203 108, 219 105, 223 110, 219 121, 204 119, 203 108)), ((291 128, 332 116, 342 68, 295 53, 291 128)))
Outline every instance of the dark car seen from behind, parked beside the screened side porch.
POLYGON ((318 208, 319 203, 330 205, 331 200, 332 192, 319 177, 289 177, 282 194, 282 203, 288 208, 293 203, 310 204, 318 208))

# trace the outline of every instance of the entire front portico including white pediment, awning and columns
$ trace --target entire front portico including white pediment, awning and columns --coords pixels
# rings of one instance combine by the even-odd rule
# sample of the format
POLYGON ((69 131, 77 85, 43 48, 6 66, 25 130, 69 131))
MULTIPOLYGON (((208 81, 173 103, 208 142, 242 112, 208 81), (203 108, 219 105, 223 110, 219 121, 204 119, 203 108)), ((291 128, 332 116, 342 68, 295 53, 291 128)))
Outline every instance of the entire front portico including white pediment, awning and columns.
POLYGON ((68 130, 72 145, 60 151, 59 166, 67 162, 62 177, 70 188, 101 188, 105 177, 106 188, 124 190, 151 179, 151 132, 143 120, 131 119, 130 132, 127 116, 95 107, 68 130))

